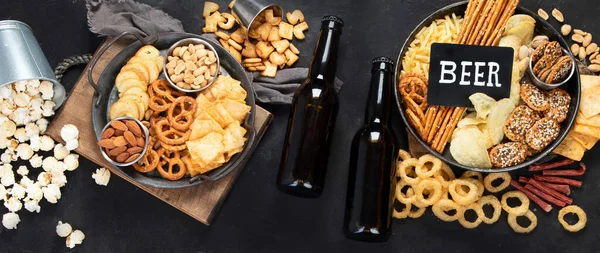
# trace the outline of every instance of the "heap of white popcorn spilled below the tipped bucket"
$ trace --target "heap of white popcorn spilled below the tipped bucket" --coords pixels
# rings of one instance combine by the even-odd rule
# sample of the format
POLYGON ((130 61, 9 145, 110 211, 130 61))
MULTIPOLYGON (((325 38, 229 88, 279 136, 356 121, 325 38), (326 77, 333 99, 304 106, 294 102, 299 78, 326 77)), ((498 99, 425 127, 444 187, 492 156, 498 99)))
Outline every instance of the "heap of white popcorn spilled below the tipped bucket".
POLYGON ((0 201, 8 209, 2 216, 7 229, 17 228, 21 221, 18 212, 23 208, 39 213, 42 199, 57 203, 60 188, 67 184, 65 172, 79 167, 79 155, 70 153, 79 145, 77 127, 61 129, 66 145, 55 144, 44 135, 47 117, 54 115, 53 96, 54 87, 48 81, 27 80, 0 87, 0 149, 4 150, 0 156, 0 201), (23 165, 14 168, 16 162, 23 165))

